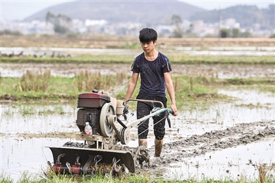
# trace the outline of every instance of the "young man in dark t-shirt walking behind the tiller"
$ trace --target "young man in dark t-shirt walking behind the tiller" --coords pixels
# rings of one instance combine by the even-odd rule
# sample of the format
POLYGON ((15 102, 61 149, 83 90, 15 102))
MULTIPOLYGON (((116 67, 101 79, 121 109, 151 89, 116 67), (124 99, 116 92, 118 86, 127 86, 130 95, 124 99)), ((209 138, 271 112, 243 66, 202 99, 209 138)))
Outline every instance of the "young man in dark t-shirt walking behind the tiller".
MULTIPOLYGON (((140 75, 141 85, 137 99, 158 100, 162 102, 166 108, 167 99, 165 90, 167 89, 171 100, 170 108, 173 110, 173 116, 177 116, 175 91, 170 75, 172 67, 168 58, 164 54, 155 50, 155 45, 157 44, 157 32, 151 28, 140 30, 140 44, 144 52, 135 57, 135 60, 133 61, 131 67, 133 73, 128 85, 126 100, 131 98, 135 86, 137 85, 137 79, 140 75)), ((137 102, 137 119, 148 116, 153 107, 160 107, 160 105, 158 103, 137 102)), ((160 156, 164 142, 165 116, 166 114, 162 113, 159 116, 153 117, 156 157, 160 156)), ((143 145, 144 147, 147 147, 148 122, 149 120, 146 120, 138 125, 137 133, 139 146, 143 145)))

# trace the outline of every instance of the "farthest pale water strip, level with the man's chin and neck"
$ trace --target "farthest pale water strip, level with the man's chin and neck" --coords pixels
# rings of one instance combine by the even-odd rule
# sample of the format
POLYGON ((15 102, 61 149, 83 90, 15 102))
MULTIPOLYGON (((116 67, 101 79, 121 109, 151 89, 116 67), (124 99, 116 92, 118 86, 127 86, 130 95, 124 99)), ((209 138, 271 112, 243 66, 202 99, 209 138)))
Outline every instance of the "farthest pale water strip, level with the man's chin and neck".
MULTIPOLYGON (((1 47, 5 54, 24 54, 51 55, 52 52, 62 54, 111 54, 111 55, 128 55, 135 56, 140 50, 126 49, 90 49, 90 48, 69 48, 69 47, 1 47)), ((166 50, 167 54, 190 56, 274 56, 274 47, 170 47, 166 50)))

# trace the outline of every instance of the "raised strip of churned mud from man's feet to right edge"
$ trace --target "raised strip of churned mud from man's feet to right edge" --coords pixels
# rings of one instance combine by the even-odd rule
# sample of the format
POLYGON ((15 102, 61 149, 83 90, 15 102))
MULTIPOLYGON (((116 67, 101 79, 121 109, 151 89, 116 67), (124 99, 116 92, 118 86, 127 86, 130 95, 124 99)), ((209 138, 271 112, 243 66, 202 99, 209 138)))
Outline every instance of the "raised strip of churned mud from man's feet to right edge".
MULTIPOLYGON (((275 137, 274 120, 236 124, 234 127, 227 129, 210 131, 200 136, 193 135, 190 138, 168 142, 164 144, 161 157, 153 158, 151 162, 155 166, 181 162, 187 157, 195 157, 208 152, 250 144, 270 136, 275 137)), ((152 156, 154 148, 149 149, 149 153, 152 156)))

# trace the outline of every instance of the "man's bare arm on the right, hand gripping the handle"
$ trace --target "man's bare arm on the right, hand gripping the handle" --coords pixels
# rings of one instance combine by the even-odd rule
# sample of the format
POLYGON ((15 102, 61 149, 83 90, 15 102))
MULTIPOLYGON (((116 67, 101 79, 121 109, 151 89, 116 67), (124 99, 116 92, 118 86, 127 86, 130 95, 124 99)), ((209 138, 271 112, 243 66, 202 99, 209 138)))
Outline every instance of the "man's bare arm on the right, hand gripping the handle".
POLYGON ((165 83, 166 83, 166 88, 167 88, 168 94, 170 96, 171 109, 173 111, 173 116, 177 116, 175 90, 174 90, 173 81, 172 81, 170 72, 165 72, 164 73, 164 80, 165 80, 165 83))

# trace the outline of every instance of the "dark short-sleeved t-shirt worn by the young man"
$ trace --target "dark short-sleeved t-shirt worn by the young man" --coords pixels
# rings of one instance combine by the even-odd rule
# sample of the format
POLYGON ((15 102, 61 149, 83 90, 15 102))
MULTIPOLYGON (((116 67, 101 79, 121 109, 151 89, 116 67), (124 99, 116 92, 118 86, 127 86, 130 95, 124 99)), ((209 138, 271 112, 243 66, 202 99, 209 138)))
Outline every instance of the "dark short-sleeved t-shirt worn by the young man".
POLYGON ((159 52, 155 61, 148 61, 143 52, 135 57, 131 71, 140 74, 140 93, 147 96, 166 97, 164 73, 172 71, 167 56, 159 52))

